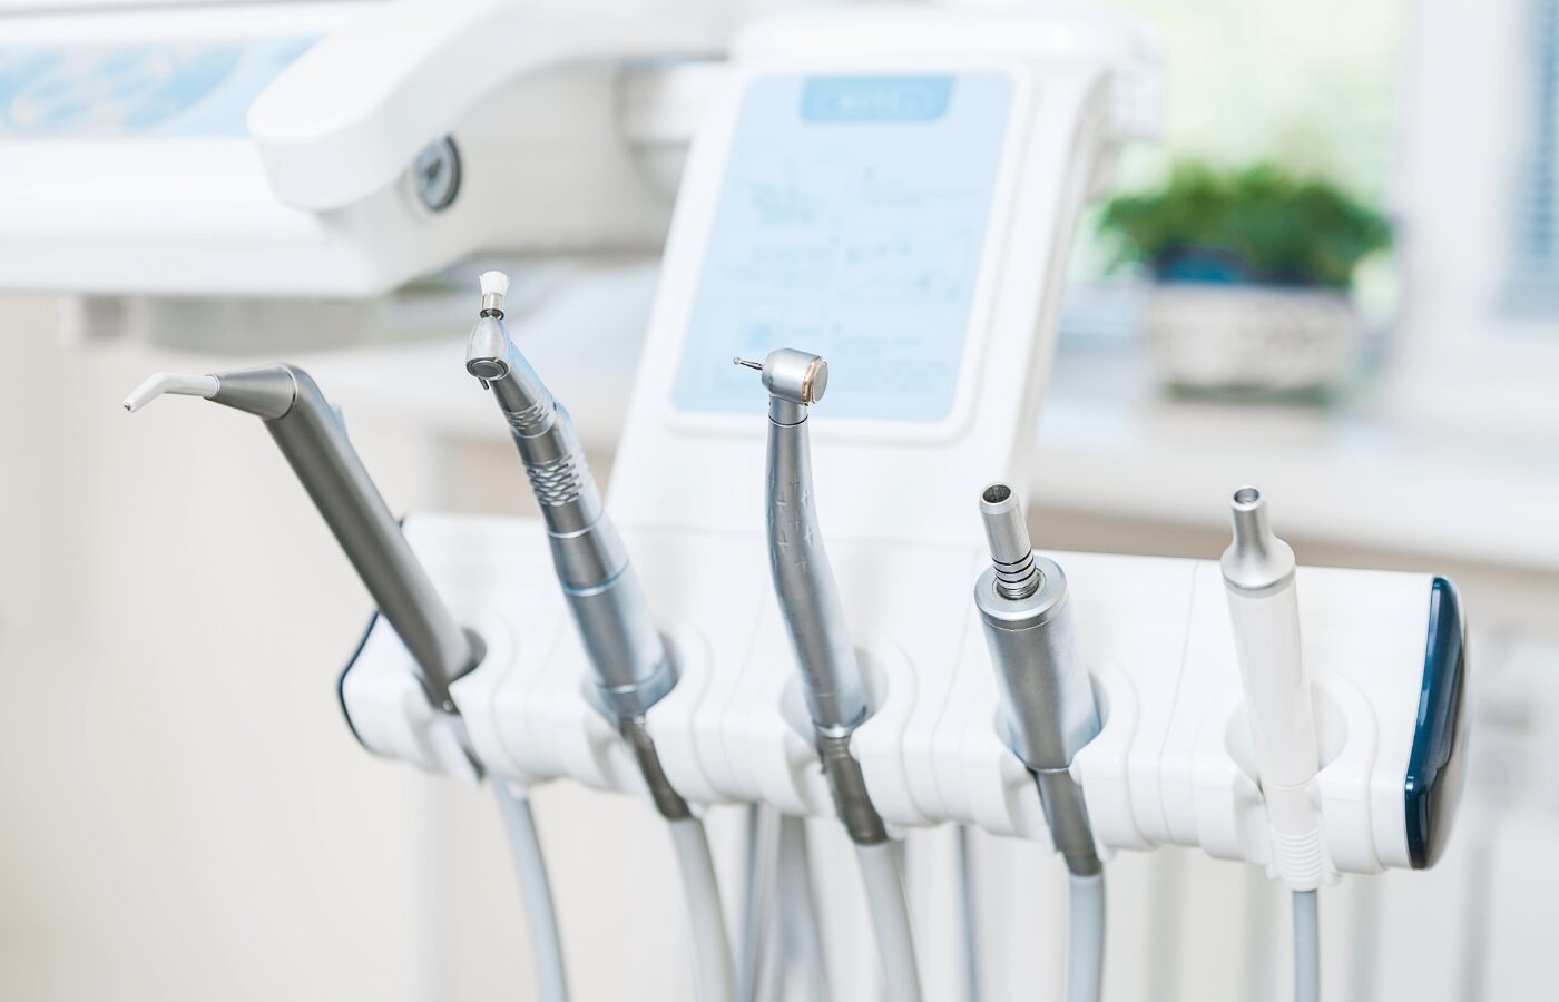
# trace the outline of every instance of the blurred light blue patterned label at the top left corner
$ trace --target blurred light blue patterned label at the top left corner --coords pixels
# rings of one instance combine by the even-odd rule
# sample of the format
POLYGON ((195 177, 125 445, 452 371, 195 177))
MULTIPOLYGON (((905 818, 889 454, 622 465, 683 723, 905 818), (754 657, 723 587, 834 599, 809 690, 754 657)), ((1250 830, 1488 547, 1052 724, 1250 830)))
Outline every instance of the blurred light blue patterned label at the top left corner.
POLYGON ((0 48, 0 139, 246 136, 249 104, 313 42, 0 48))

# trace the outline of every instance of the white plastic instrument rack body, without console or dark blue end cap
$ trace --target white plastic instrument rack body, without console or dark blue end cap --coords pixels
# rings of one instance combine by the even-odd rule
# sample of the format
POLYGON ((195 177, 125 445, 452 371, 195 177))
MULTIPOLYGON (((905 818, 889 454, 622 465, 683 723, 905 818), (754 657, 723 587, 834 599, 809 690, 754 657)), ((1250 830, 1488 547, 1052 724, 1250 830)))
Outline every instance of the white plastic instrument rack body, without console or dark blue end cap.
MULTIPOLYGON (((627 748, 585 698, 588 665, 544 572, 541 524, 416 516, 405 531, 457 617, 488 640, 486 661, 452 689, 482 764, 519 782, 569 776, 638 793, 627 748)), ((762 799, 833 817, 762 536, 624 536, 683 669, 649 715, 672 782, 697 803, 762 799)), ((1186 845, 1271 866, 1218 564, 1049 556, 1066 569, 1105 714, 1073 767, 1101 851, 1186 845)), ((970 598, 981 549, 845 542, 831 558, 879 700, 854 748, 882 815, 896 826, 959 821, 1048 845, 1034 784, 996 731, 996 686, 970 598)), ((1320 817, 1327 879, 1411 865, 1403 778, 1431 581, 1299 570, 1322 757, 1306 792, 1320 817)), ((345 678, 354 729, 374 751, 466 774, 427 737, 416 695, 404 648, 376 623, 345 678)))

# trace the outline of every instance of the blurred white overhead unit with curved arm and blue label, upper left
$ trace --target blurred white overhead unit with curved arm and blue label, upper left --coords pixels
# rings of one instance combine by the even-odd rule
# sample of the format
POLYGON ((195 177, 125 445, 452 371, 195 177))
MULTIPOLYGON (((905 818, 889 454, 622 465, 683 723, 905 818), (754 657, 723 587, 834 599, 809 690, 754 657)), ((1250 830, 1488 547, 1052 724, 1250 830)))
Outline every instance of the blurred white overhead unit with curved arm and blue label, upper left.
MULTIPOLYGON (((0 12, 0 185, 25 193, 0 290, 341 299, 480 251, 653 251, 670 199, 624 140, 625 67, 677 76, 728 33, 675 0, 44 6, 0 12), (444 136, 460 182, 433 210, 413 165, 444 136)), ((703 101, 633 93, 659 125, 703 101)))

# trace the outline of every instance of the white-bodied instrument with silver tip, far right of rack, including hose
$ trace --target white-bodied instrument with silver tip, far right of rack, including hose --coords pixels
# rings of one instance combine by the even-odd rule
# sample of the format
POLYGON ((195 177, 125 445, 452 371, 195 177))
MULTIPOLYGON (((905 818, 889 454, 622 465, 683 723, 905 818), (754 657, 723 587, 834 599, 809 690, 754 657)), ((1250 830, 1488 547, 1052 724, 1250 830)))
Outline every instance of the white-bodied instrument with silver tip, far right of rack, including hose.
POLYGON ((1294 550, 1272 533, 1261 491, 1239 488, 1230 506, 1235 539, 1224 550, 1221 567, 1239 683, 1257 750, 1272 866, 1294 891, 1294 999, 1314 1002, 1320 993, 1316 888, 1324 876, 1324 854, 1310 781, 1320 770, 1320 754, 1299 639, 1294 550))

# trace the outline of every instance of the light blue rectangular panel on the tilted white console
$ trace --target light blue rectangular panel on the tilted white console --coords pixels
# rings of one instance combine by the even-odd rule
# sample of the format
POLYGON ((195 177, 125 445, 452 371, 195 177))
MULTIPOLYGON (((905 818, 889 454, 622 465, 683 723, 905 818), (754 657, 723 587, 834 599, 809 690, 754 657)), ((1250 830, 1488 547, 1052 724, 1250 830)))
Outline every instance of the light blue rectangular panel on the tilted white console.
POLYGON ((733 355, 823 355, 829 418, 949 415, 1012 81, 769 76, 744 95, 673 388, 764 413, 733 355))

